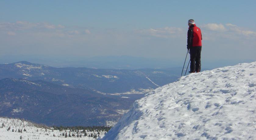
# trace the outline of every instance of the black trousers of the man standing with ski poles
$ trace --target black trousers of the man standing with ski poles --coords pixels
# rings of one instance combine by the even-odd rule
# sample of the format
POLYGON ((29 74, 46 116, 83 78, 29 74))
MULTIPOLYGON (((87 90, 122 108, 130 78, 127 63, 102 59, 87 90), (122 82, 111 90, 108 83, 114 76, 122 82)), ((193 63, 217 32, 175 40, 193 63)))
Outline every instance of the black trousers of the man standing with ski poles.
POLYGON ((190 48, 190 72, 201 71, 201 49, 202 47, 190 48))

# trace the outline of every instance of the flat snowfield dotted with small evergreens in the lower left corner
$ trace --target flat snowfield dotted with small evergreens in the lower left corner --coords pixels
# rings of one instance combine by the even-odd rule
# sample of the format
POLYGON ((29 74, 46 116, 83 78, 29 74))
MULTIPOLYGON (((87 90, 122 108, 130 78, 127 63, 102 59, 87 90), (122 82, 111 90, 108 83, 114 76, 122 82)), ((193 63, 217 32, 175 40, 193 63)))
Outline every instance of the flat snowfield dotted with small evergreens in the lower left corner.
MULTIPOLYGON (((0 126, 2 127, 2 124, 4 124, 3 128, 0 128, 0 140, 18 140, 20 139, 20 136, 22 139, 30 140, 30 139, 41 139, 41 140, 95 140, 93 137, 89 137, 89 134, 97 134, 97 131, 90 131, 87 132, 87 136, 84 136, 84 133, 82 133, 82 130, 79 130, 79 135, 82 135, 81 137, 77 137, 77 132, 70 132, 70 130, 52 130, 51 129, 45 129, 42 127, 39 127, 38 124, 34 124, 27 121, 22 121, 20 119, 12 119, 12 118, 5 118, 0 117, 0 126), (8 128, 10 127, 10 130, 8 131, 8 128), (13 129, 13 132, 12 132, 13 129), (18 132, 18 130, 24 130, 22 133, 18 132), (67 137, 62 136, 60 134, 64 133, 67 135, 75 134, 73 137, 67 137), (55 135, 55 136, 53 136, 55 135)), ((103 136, 105 134, 105 131, 100 132, 100 136, 103 136)))

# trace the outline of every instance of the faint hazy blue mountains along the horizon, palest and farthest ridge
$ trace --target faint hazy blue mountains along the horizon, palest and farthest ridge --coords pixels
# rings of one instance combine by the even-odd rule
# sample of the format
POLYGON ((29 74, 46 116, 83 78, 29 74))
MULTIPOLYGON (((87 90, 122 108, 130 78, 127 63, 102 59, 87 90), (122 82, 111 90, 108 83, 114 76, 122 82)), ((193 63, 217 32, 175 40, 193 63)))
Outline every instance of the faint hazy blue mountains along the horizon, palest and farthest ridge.
MULTIPOLYGON (((133 56, 101 56, 101 57, 43 57, 43 56, 25 56, 25 55, 2 55, 0 56, 0 64, 13 63, 19 60, 44 64, 53 67, 86 67, 101 69, 142 69, 142 68, 171 68, 181 66, 182 64, 170 59, 143 58, 133 56)), ((183 61, 183 60, 182 60, 183 61)))

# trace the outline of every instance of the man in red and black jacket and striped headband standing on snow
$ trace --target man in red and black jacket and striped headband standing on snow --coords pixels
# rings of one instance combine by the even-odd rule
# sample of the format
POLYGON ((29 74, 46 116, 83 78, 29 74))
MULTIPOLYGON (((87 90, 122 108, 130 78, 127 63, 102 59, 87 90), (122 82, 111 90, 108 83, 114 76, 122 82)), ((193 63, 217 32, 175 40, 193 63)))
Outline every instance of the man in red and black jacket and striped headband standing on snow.
POLYGON ((201 71, 202 34, 193 19, 188 20, 187 49, 190 51, 190 73, 201 71))

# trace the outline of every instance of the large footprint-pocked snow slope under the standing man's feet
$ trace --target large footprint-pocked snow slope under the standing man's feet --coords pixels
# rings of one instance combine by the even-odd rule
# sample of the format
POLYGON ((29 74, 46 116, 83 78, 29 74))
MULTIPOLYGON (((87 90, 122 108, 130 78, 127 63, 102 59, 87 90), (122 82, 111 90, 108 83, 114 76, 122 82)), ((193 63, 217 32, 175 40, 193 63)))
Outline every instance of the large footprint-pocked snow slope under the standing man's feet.
POLYGON ((192 73, 133 103, 99 139, 256 139, 256 62, 192 73))

